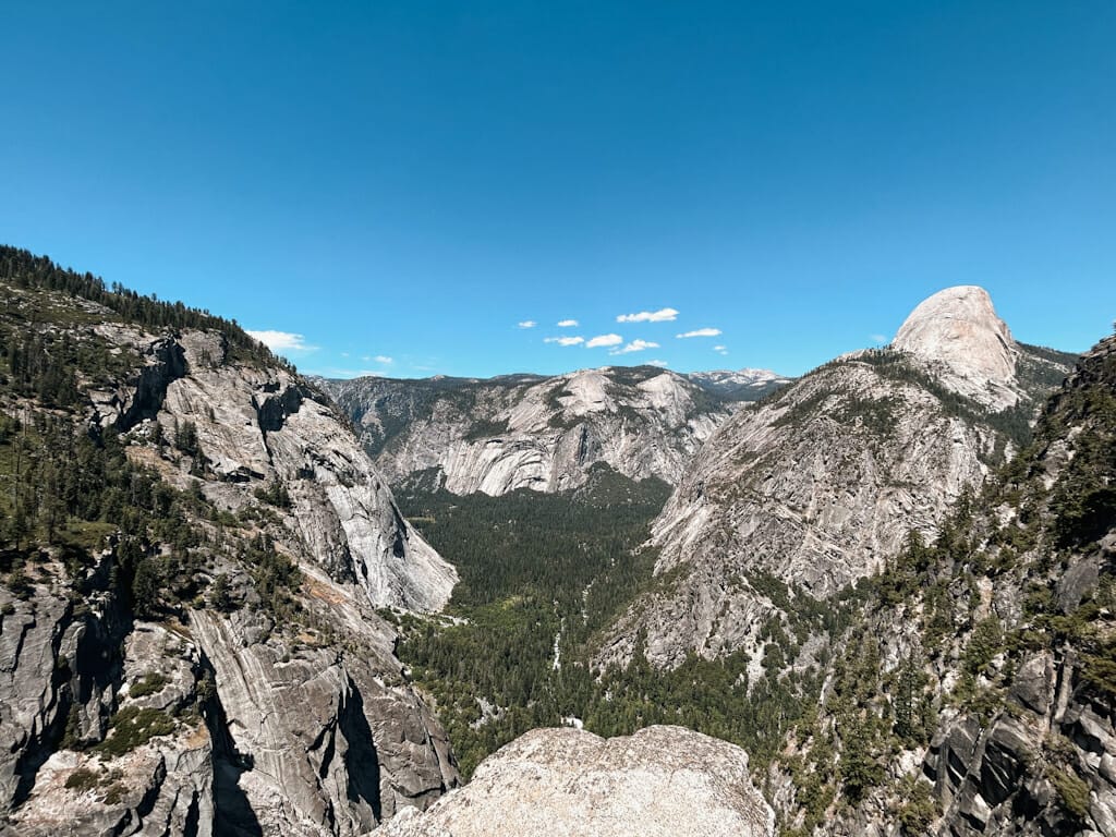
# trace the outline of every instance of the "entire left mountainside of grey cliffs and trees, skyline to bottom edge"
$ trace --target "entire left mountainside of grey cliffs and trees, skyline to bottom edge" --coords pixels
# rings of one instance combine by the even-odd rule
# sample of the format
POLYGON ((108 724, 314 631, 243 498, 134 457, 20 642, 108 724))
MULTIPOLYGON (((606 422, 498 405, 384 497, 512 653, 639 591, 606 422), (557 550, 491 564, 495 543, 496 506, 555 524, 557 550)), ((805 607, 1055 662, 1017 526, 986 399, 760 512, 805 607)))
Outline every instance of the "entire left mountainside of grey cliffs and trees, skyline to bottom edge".
POLYGON ((230 324, 0 256, 0 446, 41 480, 0 536, 0 830, 357 835, 453 787, 377 608, 456 576, 328 400, 230 324))

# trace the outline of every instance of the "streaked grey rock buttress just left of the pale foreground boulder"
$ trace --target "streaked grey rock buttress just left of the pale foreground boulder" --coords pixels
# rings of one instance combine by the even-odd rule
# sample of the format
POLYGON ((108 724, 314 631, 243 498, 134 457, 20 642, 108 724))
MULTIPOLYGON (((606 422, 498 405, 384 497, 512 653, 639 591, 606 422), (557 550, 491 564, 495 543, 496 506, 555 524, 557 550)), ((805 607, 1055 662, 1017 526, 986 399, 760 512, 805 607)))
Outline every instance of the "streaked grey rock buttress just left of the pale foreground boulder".
POLYGON ((224 833, 364 834, 455 781, 436 722, 385 685, 387 660, 253 642, 269 626, 248 614, 194 613, 191 624, 220 701, 224 833))

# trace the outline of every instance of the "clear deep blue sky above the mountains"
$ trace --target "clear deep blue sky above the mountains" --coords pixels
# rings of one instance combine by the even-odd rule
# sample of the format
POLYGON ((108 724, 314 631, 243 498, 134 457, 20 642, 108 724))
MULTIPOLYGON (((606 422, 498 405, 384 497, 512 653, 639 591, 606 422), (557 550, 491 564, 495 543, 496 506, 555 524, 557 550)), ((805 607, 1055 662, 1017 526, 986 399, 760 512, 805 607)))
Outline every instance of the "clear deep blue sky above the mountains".
POLYGON ((1110 0, 10 1, 0 31, 0 241, 307 372, 799 374, 961 283, 1030 343, 1116 318, 1110 0))

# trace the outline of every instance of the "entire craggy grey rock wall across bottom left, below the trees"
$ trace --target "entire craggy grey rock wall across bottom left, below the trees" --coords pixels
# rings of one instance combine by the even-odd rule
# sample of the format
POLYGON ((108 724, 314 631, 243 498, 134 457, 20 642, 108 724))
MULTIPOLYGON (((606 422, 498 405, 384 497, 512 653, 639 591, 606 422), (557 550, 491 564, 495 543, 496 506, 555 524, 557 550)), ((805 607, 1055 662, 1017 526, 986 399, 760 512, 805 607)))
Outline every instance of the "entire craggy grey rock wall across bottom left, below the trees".
POLYGON ((7 816, 12 834, 44 837, 358 835, 453 787, 449 741, 403 684, 391 631, 327 578, 310 588, 352 655, 249 610, 171 629, 126 618, 107 593, 75 615, 52 585, 27 602, 0 589, 0 830, 7 816), (171 729, 103 751, 119 734, 109 718, 135 710, 171 729))

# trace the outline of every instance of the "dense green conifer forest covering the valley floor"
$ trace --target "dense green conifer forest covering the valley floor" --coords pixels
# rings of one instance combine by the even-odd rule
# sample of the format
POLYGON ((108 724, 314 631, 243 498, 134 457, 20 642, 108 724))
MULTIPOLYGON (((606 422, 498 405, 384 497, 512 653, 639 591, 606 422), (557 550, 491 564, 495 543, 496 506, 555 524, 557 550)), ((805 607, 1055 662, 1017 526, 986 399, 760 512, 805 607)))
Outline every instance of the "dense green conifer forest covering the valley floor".
POLYGON ((565 494, 401 491, 411 521, 461 574, 443 616, 395 618, 400 657, 434 699, 465 776, 522 732, 562 723, 606 737, 683 724, 745 747, 761 766, 816 703, 820 664, 789 664, 808 636, 847 624, 862 600, 857 590, 824 604, 770 576, 748 579, 796 614, 764 627, 759 677, 749 676, 743 652, 716 661, 692 655, 667 672, 642 650, 626 668, 593 665, 600 632, 671 583, 668 574, 653 577, 655 554, 642 548, 667 494, 663 483, 636 483, 606 468, 565 494))

